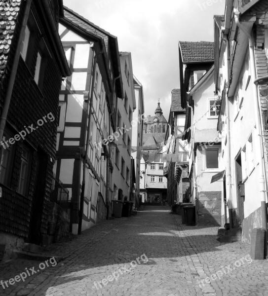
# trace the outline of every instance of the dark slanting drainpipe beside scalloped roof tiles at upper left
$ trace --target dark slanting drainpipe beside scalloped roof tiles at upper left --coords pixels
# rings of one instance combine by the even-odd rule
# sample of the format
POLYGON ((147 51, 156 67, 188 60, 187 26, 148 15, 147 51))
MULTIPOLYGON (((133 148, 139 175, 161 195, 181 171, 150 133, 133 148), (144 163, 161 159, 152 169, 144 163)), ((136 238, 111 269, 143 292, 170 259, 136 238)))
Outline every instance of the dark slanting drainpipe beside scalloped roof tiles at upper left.
POLYGON ((4 106, 3 106, 3 110, 0 118, 0 141, 2 141, 2 138, 3 138, 7 113, 8 113, 8 109, 11 101, 12 90, 15 83, 15 77, 17 74, 17 68, 18 68, 19 59, 20 59, 21 44, 25 36, 25 30, 26 30, 29 13, 30 13, 31 3, 32 3, 32 0, 28 0, 26 3, 25 12, 22 20, 21 29, 20 29, 20 35, 17 43, 17 48, 16 48, 14 59, 13 59, 12 69, 10 72, 9 82, 8 82, 7 91, 4 99, 4 106))

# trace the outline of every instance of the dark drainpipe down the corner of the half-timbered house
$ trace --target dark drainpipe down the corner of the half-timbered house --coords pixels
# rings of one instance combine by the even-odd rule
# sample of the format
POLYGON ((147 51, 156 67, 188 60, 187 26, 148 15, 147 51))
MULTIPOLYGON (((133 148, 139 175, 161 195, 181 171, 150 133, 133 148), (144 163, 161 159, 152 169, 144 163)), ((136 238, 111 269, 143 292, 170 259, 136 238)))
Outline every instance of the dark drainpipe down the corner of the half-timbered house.
POLYGON ((82 189, 80 195, 80 210, 79 210, 79 221, 78 221, 78 234, 81 234, 82 231, 82 220, 83 220, 83 212, 84 212, 84 193, 85 193, 85 170, 86 170, 86 158, 89 149, 89 133, 91 128, 91 109, 93 103, 93 91, 94 91, 94 82, 95 82, 95 73, 96 73, 96 65, 97 65, 97 56, 101 55, 104 52, 104 48, 98 54, 95 54, 93 59, 93 76, 91 83, 91 93, 90 98, 87 100, 87 114, 88 114, 88 124, 87 124, 87 134, 86 134, 86 146, 85 152, 83 155, 83 180, 82 180, 82 189), (89 103, 90 100, 90 103, 89 103), (89 108, 89 110, 88 110, 89 108))

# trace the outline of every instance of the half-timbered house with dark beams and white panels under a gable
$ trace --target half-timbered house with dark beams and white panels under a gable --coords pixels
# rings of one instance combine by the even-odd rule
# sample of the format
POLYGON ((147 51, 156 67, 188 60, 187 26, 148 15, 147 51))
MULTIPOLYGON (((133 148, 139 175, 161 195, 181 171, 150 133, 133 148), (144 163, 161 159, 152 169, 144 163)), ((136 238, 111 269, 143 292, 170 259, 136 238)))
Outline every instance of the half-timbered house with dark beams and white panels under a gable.
POLYGON ((72 232, 77 234, 111 215, 114 168, 107 144, 123 91, 116 37, 67 7, 59 33, 72 74, 59 96, 54 171, 70 192, 72 232))

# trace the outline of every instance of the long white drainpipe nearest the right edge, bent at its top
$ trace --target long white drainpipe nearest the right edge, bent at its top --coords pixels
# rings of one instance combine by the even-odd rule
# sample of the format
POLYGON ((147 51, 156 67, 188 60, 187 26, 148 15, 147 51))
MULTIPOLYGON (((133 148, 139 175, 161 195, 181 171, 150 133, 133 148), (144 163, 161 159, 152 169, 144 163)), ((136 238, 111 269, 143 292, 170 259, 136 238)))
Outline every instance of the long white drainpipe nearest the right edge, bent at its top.
POLYGON ((264 255, 266 258, 267 255, 267 210, 266 210, 266 190, 265 190, 265 170, 264 170, 264 162, 263 162, 263 149, 262 149, 262 136, 261 136, 261 116, 260 116, 260 102, 258 96, 258 85, 254 83, 256 80, 256 65, 255 65, 255 56, 254 56, 254 44, 253 38, 251 34, 242 26, 239 22, 240 12, 234 9, 234 19, 236 25, 244 32, 244 34, 248 37, 249 41, 249 54, 250 54, 250 66, 252 70, 252 83, 253 83, 253 100, 254 100, 254 115, 256 120, 256 132, 258 136, 258 140, 256 141, 257 151, 255 155, 257 156, 257 160, 259 162, 260 167, 260 197, 261 197, 261 208, 262 208, 262 226, 265 229, 265 250, 264 255))

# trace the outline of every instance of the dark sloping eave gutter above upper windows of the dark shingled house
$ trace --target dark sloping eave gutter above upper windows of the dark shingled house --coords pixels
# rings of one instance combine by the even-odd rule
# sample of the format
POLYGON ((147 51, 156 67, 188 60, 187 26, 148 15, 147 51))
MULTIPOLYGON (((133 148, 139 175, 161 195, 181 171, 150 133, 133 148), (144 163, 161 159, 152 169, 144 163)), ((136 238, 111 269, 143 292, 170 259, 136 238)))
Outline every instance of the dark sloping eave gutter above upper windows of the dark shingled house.
POLYGON ((56 41, 56 44, 57 44, 57 46, 59 48, 61 61, 63 62, 63 66, 64 66, 64 70, 65 70, 64 75, 65 76, 71 76, 71 71, 70 71, 66 56, 65 56, 65 52, 64 52, 64 49, 63 49, 63 46, 62 46, 62 43, 61 43, 61 38, 59 36, 59 32, 58 32, 58 28, 57 28, 56 23, 55 23, 54 16, 53 16, 52 11, 50 9, 49 2, 48 2, 48 0, 45 0, 45 1, 42 1, 42 2, 43 2, 43 5, 44 5, 45 12, 47 14, 49 23, 51 25, 53 37, 54 37, 54 39, 56 41))

